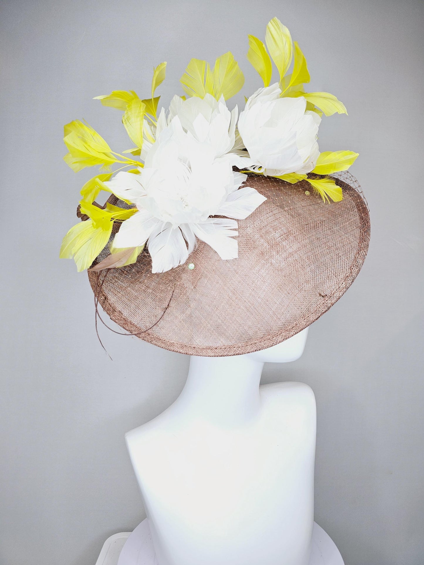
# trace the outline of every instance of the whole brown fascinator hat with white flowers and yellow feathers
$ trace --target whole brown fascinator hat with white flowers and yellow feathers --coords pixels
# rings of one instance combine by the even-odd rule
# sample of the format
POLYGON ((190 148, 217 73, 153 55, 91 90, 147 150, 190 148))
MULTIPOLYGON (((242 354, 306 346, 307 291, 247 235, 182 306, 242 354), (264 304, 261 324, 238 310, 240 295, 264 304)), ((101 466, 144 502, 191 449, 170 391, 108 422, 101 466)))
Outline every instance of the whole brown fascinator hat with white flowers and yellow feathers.
POLYGON ((369 244, 367 204, 348 172, 358 154, 318 149, 321 119, 345 106, 305 91, 306 59, 278 19, 265 44, 248 42, 263 86, 240 113, 227 101, 244 77, 226 53, 213 68, 191 59, 167 111, 155 96, 166 63, 149 98, 98 96, 123 112, 132 147, 122 153, 87 123, 64 128, 66 163, 101 171, 81 189, 82 221, 60 257, 88 269, 96 311, 179 353, 240 355, 300 332, 349 288, 369 244))

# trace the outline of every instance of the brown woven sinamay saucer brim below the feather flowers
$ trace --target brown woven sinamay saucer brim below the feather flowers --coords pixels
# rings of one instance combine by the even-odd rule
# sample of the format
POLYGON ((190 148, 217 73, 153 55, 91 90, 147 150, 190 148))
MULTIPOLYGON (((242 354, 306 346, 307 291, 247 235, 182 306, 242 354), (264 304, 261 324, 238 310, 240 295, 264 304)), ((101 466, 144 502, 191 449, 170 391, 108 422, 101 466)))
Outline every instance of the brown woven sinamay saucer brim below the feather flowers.
POLYGON ((199 242, 185 264, 152 274, 145 249, 133 265, 88 271, 99 303, 129 333, 179 353, 220 357, 279 344, 334 305, 364 263, 364 195, 350 173, 335 178, 344 199, 324 203, 305 182, 249 175, 245 185, 267 200, 237 220, 238 259, 199 242))

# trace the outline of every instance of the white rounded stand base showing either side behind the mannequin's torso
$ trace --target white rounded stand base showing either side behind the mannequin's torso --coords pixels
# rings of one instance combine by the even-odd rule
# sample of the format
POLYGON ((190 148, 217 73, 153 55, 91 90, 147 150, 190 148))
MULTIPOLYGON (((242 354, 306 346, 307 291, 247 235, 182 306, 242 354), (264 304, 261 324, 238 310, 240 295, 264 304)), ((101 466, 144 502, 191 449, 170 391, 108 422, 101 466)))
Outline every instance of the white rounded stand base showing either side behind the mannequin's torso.
MULTIPOLYGON (((108 538, 96 565, 159 565, 148 521, 143 520, 132 533, 116 533, 108 538)), ((309 565, 344 565, 334 541, 316 523, 309 565)))

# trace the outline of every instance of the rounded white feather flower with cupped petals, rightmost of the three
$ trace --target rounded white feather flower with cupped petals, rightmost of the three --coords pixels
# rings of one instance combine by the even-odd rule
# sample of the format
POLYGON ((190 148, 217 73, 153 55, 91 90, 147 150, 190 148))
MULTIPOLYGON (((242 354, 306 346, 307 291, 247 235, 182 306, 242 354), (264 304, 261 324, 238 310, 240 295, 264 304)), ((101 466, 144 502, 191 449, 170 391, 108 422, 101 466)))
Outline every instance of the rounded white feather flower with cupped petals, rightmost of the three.
POLYGON ((249 156, 237 166, 261 167, 265 175, 308 173, 319 156, 321 118, 304 97, 280 98, 278 84, 259 88, 240 113, 239 132, 249 156))

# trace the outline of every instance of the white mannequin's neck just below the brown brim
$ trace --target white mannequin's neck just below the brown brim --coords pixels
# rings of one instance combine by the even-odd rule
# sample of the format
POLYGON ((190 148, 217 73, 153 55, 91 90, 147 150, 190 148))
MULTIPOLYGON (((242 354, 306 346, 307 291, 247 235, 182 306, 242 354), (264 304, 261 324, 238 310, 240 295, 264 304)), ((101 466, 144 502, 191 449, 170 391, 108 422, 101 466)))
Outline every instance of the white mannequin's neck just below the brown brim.
POLYGON ((247 355, 191 357, 178 405, 191 418, 217 425, 250 420, 259 411, 262 368, 247 355))

